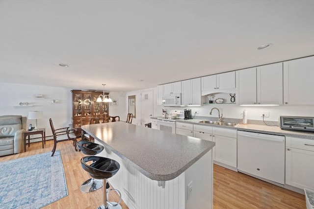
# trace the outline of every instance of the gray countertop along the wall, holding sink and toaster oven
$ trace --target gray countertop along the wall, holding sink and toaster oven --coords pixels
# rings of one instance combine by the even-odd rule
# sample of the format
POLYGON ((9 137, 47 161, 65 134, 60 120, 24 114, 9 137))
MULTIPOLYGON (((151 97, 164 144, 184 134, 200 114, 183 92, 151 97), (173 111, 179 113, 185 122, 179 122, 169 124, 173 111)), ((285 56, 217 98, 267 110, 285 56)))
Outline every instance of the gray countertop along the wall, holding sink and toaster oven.
POLYGON ((201 121, 201 120, 203 120, 203 119, 187 119, 187 120, 178 119, 178 120, 176 120, 176 122, 192 123, 192 124, 204 125, 204 126, 213 126, 213 127, 220 127, 220 128, 235 129, 235 130, 239 130, 239 131, 250 131, 250 132, 262 133, 262 134, 272 134, 272 135, 314 140, 314 133, 301 132, 301 131, 287 131, 287 130, 282 130, 279 126, 266 126, 266 125, 256 125, 256 124, 238 124, 235 127, 230 127, 230 126, 221 126, 221 125, 199 123, 199 121, 201 121))

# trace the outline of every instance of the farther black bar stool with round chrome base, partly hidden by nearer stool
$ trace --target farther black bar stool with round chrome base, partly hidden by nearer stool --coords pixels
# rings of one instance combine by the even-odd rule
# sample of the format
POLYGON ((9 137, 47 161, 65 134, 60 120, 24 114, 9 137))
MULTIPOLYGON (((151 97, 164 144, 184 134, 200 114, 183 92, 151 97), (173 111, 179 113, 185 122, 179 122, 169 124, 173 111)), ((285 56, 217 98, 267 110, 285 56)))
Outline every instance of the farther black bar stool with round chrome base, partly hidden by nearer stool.
MULTIPOLYGON (((78 149, 82 151, 85 155, 97 155, 104 150, 104 146, 100 144, 96 144, 90 141, 78 141, 77 142, 78 149)), ((90 178, 85 181, 79 189, 81 192, 93 192, 97 189, 100 189, 103 186, 103 181, 99 179, 90 178)))

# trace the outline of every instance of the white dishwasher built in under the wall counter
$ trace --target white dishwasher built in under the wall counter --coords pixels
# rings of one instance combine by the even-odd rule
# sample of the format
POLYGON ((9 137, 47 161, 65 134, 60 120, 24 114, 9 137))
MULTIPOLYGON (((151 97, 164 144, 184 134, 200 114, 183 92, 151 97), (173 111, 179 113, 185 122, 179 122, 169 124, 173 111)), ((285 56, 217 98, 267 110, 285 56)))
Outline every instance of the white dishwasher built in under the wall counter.
POLYGON ((285 137, 237 131, 237 169, 285 184, 285 137))

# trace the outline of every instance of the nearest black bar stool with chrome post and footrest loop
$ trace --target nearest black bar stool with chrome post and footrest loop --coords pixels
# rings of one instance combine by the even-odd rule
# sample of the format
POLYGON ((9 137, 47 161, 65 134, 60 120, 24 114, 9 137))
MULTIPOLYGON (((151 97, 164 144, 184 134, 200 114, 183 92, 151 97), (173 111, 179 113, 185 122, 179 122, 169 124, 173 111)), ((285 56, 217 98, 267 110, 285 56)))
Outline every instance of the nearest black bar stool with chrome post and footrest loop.
MULTIPOLYGON (((103 185, 107 184, 107 179, 114 176, 120 169, 120 164, 112 159, 104 158, 100 156, 86 156, 80 160, 82 168, 89 173, 89 175, 94 179, 102 179, 103 185), (92 162, 91 164, 87 164, 92 162)), ((115 190, 120 196, 118 203, 111 203, 107 200, 107 190, 106 186, 103 186, 103 205, 99 206, 97 209, 121 209, 119 203, 121 202, 121 193, 117 189, 115 190)))

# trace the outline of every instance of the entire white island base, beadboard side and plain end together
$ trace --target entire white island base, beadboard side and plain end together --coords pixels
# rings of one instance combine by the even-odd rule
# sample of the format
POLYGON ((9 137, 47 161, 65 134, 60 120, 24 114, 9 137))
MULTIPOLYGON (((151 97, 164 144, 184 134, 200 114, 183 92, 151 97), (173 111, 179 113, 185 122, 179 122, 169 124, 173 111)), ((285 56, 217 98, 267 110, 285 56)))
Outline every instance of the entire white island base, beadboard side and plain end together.
MULTIPOLYGON (((102 143, 95 139, 95 143, 102 143)), ((212 208, 212 152, 205 154, 177 178, 158 186, 115 153, 105 148, 99 156, 120 163, 120 170, 109 183, 122 193, 130 209, 211 209, 212 208), (192 181, 193 191, 187 199, 187 185, 192 181)))

